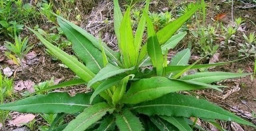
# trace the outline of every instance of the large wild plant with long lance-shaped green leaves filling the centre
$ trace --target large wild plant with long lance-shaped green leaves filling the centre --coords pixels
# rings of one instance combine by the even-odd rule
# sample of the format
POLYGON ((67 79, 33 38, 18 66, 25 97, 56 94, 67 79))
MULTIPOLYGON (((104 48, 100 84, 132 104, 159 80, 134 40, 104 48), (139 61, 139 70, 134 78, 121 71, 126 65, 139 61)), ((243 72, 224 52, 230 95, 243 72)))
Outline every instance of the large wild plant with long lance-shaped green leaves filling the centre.
POLYGON ((134 35, 130 21, 131 8, 128 7, 123 15, 118 0, 114 0, 114 30, 120 53, 112 51, 100 39, 56 15, 58 24, 72 42, 74 52, 83 63, 46 41, 38 32, 28 28, 58 59, 80 77, 80 79, 70 80, 40 91, 84 83, 94 91, 76 94, 73 97, 61 92, 39 94, 4 104, 0 106, 0 109, 32 113, 78 114, 70 123, 60 125, 54 131, 192 131, 193 128, 202 129, 194 124, 195 122, 191 121, 190 117, 205 121, 214 121, 214 119, 235 121, 256 127, 206 100, 178 93, 199 89, 221 91, 220 88, 224 86, 210 83, 248 75, 200 72, 181 76, 190 69, 230 63, 188 65, 189 49, 180 51, 172 58, 170 64, 167 63, 168 50, 173 49, 178 43, 173 37, 184 36, 184 33, 177 35, 174 33, 201 5, 194 4, 183 16, 155 32, 147 14, 149 2, 150 0, 147 0, 134 35), (146 25, 148 38, 147 42, 142 44, 146 25), (153 68, 150 70, 145 66, 153 68))

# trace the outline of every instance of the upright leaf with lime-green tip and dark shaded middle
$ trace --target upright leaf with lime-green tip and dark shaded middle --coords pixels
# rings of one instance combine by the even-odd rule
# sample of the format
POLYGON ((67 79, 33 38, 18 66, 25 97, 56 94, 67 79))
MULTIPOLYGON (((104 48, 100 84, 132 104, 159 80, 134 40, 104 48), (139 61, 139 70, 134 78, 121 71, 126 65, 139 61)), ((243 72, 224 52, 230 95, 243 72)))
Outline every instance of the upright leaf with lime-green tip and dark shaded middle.
POLYGON ((148 55, 153 63, 153 66, 156 67, 157 76, 162 76, 162 73, 164 70, 163 68, 164 56, 162 55, 162 50, 159 45, 158 39, 156 37, 153 23, 151 22, 146 12, 143 12, 143 15, 146 17, 147 26, 148 26, 148 42, 147 42, 148 55))

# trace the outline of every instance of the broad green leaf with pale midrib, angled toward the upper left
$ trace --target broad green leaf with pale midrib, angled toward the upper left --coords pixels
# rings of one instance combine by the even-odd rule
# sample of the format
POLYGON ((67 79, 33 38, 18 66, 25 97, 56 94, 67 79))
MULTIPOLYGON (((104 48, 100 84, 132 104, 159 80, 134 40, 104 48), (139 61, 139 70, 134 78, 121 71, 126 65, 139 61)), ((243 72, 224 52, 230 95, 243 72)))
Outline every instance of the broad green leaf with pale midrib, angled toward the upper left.
POLYGON ((103 57, 91 41, 84 35, 72 28, 68 23, 57 18, 58 24, 69 41, 72 42, 72 49, 92 72, 97 73, 103 67, 103 57))

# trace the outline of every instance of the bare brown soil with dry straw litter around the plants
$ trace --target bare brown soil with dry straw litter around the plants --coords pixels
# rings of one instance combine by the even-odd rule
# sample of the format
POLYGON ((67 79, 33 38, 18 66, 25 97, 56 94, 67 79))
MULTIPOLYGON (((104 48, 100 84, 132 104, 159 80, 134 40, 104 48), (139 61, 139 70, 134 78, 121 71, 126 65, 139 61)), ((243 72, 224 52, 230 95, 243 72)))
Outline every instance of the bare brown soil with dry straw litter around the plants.
MULTIPOLYGON (((225 0, 222 0, 225 1, 225 0)), ((185 0, 179 0, 176 2, 177 5, 178 2, 186 3, 185 0)), ((112 2, 110 0, 104 0, 102 1, 95 1, 95 2, 88 2, 91 3, 90 7, 87 8, 88 11, 84 11, 81 16, 81 21, 78 22, 78 25, 86 29, 88 32, 92 33, 95 36, 98 36, 98 33, 101 31, 102 33, 102 40, 108 43, 109 47, 112 49, 117 49, 117 46, 115 44, 116 38, 114 37, 113 33, 113 22, 112 22, 112 2), (108 19, 110 22, 103 22, 104 20, 108 19)), ((220 13, 226 13, 226 19, 223 20, 222 22, 224 25, 227 25, 230 23, 231 20, 231 9, 232 5, 231 2, 220 2, 220 0, 213 0, 212 2, 207 1, 208 8, 207 8, 207 17, 206 17, 206 23, 212 24, 213 18, 220 13), (217 9, 218 8, 218 9, 217 9)), ((243 25, 243 27, 246 27, 245 33, 249 33, 252 31, 256 31, 256 8, 251 8, 251 9, 240 9, 237 6, 241 5, 241 2, 234 2, 234 18, 237 18, 241 16, 242 18, 245 19, 246 24, 243 25)), ((84 10, 84 7, 79 6, 79 10, 84 10)), ((153 1, 152 4, 150 5, 150 10, 154 12, 162 12, 162 9, 167 9, 167 10, 172 10, 172 7, 168 6, 168 2, 166 1, 153 1)), ((49 29, 52 27, 53 24, 51 23, 40 23, 40 28, 42 29, 49 29)), ((53 61, 52 57, 47 55, 45 53, 44 47, 42 45, 38 45, 39 41, 36 39, 35 35, 29 33, 27 29, 24 29, 24 31, 21 33, 21 35, 29 35, 30 43, 36 44, 36 46, 32 49, 37 55, 36 58, 38 58, 38 62, 34 65, 28 65, 26 67, 26 75, 22 75, 21 72, 17 72, 16 76, 14 77, 14 80, 16 82, 20 80, 32 80, 34 83, 38 84, 39 82, 43 82, 45 80, 50 80, 52 76, 54 76, 54 79, 59 79, 61 78, 61 81, 66 81, 70 80, 75 77, 74 73, 70 71, 68 68, 61 67, 59 64, 61 64, 60 61, 53 61)), ((187 39, 184 39, 179 46, 174 50, 178 51, 181 49, 186 48, 187 42, 192 37, 192 35, 188 35, 187 39)), ((236 40, 237 41, 243 41, 241 39, 242 33, 238 33, 236 35, 236 40)), ((8 38, 5 38, 4 36, 0 36, 0 44, 3 45, 3 41, 5 41, 8 38)), ((66 52, 69 54, 72 54, 72 50, 70 47, 65 49, 66 52)), ((220 49, 218 51, 220 53, 219 56, 219 62, 222 61, 231 61, 231 60, 236 60, 239 59, 238 57, 238 51, 236 48, 233 48, 231 50, 229 49, 220 49)), ((194 56, 200 57, 200 54, 194 52, 192 53, 194 56)), ((4 57, 4 52, 0 52, 0 57, 4 57)), ((5 58, 4 61, 0 62, 1 68, 6 68, 9 66, 12 70, 16 70, 18 67, 14 64, 8 64, 7 63, 7 58, 5 58)), ((193 60, 191 61, 193 62, 193 60)), ((208 63, 209 60, 204 60, 203 63, 208 63)), ((228 64, 225 66, 217 66, 216 68, 212 70, 218 70, 218 71, 227 71, 227 72, 238 72, 239 69, 244 69, 244 73, 252 73, 254 69, 254 60, 252 57, 249 59, 243 59, 241 61, 238 61, 236 63, 228 64)), ((224 84, 227 86, 230 86, 230 88, 224 89, 224 92, 215 92, 213 90, 200 90, 196 91, 198 96, 202 96, 211 102, 214 102, 215 104, 222 106, 222 108, 226 108, 228 110, 232 110, 236 112, 237 114, 242 114, 240 115, 241 117, 244 116, 244 113, 247 111, 249 113, 252 113, 252 111, 256 111, 256 79, 253 81, 251 80, 250 76, 246 76, 243 78, 238 78, 235 79, 235 81, 230 81, 230 82, 223 82, 220 84, 224 84), (235 82, 238 83, 238 86, 240 87, 240 90, 237 92, 234 92, 230 94, 226 99, 222 100, 223 95, 230 90, 234 89, 234 86, 236 86, 235 82), (239 110, 239 111, 238 111, 239 110)), ((55 91, 68 91, 70 94, 74 95, 75 93, 78 92, 87 92, 87 89, 85 86, 74 86, 68 89, 60 89, 60 90, 55 90, 55 91)), ((22 96, 20 95, 20 92, 18 92, 17 98, 14 100, 21 98, 22 96)), ((256 124, 256 119, 254 119, 255 116, 251 116, 247 119, 251 121, 252 123, 256 124)), ((42 123, 42 119, 37 116, 36 119, 40 122, 38 122, 38 125, 42 123)), ((220 122, 219 123, 222 125, 223 128, 225 128, 228 131, 235 131, 231 127, 231 123, 226 123, 226 122, 220 122)), ((207 123, 203 123, 204 127, 206 129, 211 130, 210 125, 207 123)), ((244 128, 245 131, 255 131, 252 127, 244 126, 241 125, 242 128, 244 128)), ((14 129, 16 127, 10 127, 7 125, 8 128, 14 129)), ((216 131, 216 130, 212 130, 216 131)), ((238 131, 238 130, 236 130, 238 131)))

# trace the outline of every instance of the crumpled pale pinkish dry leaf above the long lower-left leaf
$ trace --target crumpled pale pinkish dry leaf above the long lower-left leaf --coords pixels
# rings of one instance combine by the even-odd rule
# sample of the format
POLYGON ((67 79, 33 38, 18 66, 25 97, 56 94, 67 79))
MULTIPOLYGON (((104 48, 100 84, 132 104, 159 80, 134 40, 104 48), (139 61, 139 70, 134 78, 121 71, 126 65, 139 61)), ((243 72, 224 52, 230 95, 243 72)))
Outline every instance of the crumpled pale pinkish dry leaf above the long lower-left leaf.
POLYGON ((22 91, 23 89, 26 89, 28 90, 30 93, 33 93, 34 92, 34 82, 32 82, 31 80, 20 80, 19 82, 17 82, 14 86, 14 90, 17 90, 17 91, 22 91))

